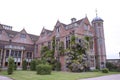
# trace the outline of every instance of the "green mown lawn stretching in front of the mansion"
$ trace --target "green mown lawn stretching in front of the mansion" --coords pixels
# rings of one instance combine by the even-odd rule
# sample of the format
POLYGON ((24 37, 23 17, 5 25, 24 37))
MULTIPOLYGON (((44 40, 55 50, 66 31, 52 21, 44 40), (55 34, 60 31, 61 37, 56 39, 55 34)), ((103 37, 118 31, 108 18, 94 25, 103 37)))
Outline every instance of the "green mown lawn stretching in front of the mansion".
POLYGON ((8 76, 15 80, 78 80, 82 78, 90 78, 97 76, 104 76, 110 74, 120 74, 118 72, 82 72, 82 73, 71 73, 71 72, 52 72, 51 75, 37 75, 35 71, 14 71, 12 75, 7 75, 6 71, 0 72, 0 75, 8 76))

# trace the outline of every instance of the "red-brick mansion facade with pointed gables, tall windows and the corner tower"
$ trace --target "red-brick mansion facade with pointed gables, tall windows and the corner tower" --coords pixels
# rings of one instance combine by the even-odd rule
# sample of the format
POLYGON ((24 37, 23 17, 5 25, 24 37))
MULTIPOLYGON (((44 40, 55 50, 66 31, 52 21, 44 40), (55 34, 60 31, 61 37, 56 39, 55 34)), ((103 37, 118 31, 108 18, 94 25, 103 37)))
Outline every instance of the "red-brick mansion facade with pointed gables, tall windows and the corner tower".
MULTIPOLYGON (((105 41, 103 20, 97 16, 93 19, 92 25, 88 18, 76 20, 71 19, 71 23, 66 25, 57 21, 54 29, 42 29, 40 36, 28 34, 25 29, 20 32, 12 31, 12 27, 0 24, 0 56, 2 67, 7 67, 8 56, 13 56, 15 63, 21 67, 22 60, 29 62, 33 58, 41 58, 41 48, 48 46, 52 49, 52 39, 55 37, 55 43, 59 45, 64 42, 64 49, 70 46, 71 35, 81 41, 85 36, 91 37, 90 47, 87 51, 90 69, 103 68, 106 63, 105 41)), ((55 48, 54 57, 58 56, 58 49, 55 48)), ((66 71, 67 55, 60 56, 61 70, 66 71)))

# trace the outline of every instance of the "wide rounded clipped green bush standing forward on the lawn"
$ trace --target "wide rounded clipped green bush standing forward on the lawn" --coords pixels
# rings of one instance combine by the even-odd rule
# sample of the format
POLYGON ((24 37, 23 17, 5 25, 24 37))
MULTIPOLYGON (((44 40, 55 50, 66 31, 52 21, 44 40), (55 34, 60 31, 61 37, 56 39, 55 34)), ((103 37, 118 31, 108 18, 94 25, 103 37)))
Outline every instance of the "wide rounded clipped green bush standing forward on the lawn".
POLYGON ((48 64, 39 64, 37 65, 36 70, 37 70, 37 74, 47 75, 47 74, 51 74, 52 67, 48 64))

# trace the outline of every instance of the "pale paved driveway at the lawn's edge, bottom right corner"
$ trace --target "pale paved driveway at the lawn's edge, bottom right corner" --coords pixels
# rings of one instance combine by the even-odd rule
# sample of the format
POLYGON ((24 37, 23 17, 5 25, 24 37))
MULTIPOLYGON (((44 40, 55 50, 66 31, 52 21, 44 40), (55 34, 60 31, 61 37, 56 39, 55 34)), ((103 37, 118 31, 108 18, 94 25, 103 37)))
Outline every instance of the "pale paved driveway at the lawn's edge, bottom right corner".
POLYGON ((120 74, 101 76, 96 78, 80 79, 80 80, 120 80, 120 74))

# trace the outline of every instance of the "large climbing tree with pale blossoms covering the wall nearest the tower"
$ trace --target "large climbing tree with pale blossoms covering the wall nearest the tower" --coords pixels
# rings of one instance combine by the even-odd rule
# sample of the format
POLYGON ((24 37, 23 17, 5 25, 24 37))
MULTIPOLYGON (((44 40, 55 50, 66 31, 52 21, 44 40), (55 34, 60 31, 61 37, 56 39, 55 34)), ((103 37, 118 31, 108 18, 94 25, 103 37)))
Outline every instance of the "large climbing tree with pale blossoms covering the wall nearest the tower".
POLYGON ((72 72, 83 71, 88 66, 86 53, 87 43, 84 39, 81 39, 79 42, 77 42, 76 39, 78 38, 75 36, 71 36, 70 49, 68 49, 67 52, 67 67, 72 72))

